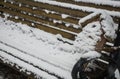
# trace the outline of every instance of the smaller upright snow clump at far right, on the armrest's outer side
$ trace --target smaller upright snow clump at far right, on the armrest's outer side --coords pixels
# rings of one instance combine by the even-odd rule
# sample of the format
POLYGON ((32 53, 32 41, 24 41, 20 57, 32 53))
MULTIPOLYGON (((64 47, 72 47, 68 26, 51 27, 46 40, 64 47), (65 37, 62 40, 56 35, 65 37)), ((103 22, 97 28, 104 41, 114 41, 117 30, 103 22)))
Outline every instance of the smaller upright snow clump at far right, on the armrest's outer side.
POLYGON ((113 41, 116 38, 116 30, 118 28, 118 24, 115 24, 113 19, 105 12, 102 13, 101 19, 101 25, 102 29, 105 31, 106 39, 113 41))

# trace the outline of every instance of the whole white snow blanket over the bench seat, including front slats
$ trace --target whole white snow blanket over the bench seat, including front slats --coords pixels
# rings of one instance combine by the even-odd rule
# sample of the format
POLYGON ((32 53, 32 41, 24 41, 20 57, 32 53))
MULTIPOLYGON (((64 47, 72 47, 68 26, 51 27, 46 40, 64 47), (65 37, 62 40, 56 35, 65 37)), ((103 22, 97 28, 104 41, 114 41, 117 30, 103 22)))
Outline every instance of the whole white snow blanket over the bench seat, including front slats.
MULTIPOLYGON (((41 67, 50 73, 54 73, 65 79, 71 79, 71 69, 76 59, 79 59, 80 54, 73 54, 70 51, 66 52, 65 50, 59 49, 60 46, 64 45, 63 42, 57 40, 57 37, 60 37, 59 35, 46 33, 42 30, 28 27, 21 23, 7 21, 3 18, 0 18, 0 27, 1 49, 32 63, 34 66, 41 67)), ((66 49, 69 50, 69 47, 66 47, 66 49)), ((0 52, 0 56, 7 58, 13 63, 17 63, 19 66, 23 67, 23 70, 27 69, 39 76, 42 75, 43 78, 46 75, 43 72, 43 74, 41 74, 40 70, 37 71, 38 69, 34 70, 31 65, 29 68, 26 68, 28 67, 27 64, 22 64, 18 59, 12 59, 9 55, 2 52, 0 52), (31 68, 33 70, 31 70, 31 68)), ((45 76, 45 78, 46 77, 48 76, 45 76)), ((48 77, 47 79, 53 78, 48 77)))

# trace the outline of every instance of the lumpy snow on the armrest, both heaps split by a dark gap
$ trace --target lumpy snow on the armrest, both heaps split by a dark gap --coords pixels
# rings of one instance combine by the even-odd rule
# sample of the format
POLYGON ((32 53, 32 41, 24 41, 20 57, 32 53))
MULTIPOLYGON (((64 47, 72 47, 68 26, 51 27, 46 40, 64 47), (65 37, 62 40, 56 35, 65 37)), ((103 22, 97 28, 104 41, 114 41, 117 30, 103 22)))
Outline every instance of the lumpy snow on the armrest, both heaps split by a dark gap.
POLYGON ((101 21, 96 21, 87 24, 80 32, 75 41, 74 46, 79 49, 77 52, 86 53, 95 50, 95 45, 101 40, 101 35, 110 42, 116 38, 116 30, 118 24, 114 23, 112 18, 103 12, 100 16, 101 21))

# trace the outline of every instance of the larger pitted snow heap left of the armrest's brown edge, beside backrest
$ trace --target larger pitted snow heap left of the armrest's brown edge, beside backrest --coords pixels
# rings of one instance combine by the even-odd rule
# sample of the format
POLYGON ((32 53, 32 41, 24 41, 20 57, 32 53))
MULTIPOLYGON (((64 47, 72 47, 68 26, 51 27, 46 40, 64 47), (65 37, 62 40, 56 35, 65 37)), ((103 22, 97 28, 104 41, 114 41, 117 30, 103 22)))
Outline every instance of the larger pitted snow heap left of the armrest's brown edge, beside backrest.
POLYGON ((99 22, 93 22, 85 26, 74 41, 74 46, 79 49, 77 52, 86 53, 91 50, 93 51, 102 34, 100 29, 99 22))

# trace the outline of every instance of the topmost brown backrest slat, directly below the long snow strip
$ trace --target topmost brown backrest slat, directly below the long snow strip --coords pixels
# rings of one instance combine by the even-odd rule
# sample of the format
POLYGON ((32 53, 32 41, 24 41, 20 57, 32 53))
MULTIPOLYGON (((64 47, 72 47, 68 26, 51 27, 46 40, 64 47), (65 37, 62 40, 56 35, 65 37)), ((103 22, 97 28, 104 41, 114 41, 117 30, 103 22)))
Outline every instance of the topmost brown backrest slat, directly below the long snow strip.
POLYGON ((36 6, 36 7, 43 8, 43 9, 48 9, 48 10, 68 14, 68 15, 75 16, 75 17, 84 17, 90 14, 89 12, 83 12, 80 10, 74 10, 74 9, 60 7, 56 5, 50 5, 47 3, 34 2, 34 1, 29 1, 29 0, 15 0, 15 1, 19 3, 27 4, 27 5, 29 4, 31 6, 36 6))

